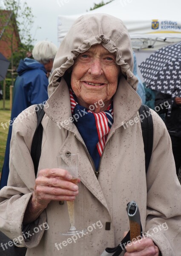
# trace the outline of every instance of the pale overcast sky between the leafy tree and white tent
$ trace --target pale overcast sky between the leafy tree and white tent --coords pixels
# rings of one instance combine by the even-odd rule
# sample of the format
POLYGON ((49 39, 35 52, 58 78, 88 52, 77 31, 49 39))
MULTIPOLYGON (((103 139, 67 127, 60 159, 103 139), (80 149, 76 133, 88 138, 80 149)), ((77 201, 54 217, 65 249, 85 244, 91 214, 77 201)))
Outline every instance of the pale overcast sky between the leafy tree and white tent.
POLYGON ((35 16, 32 35, 35 34, 34 38, 37 41, 48 40, 58 46, 58 15, 81 14, 89 11, 94 6, 94 3, 100 2, 101 0, 26 0, 26 3, 32 8, 33 15, 35 16), (37 30, 36 28, 38 26, 41 29, 37 30))

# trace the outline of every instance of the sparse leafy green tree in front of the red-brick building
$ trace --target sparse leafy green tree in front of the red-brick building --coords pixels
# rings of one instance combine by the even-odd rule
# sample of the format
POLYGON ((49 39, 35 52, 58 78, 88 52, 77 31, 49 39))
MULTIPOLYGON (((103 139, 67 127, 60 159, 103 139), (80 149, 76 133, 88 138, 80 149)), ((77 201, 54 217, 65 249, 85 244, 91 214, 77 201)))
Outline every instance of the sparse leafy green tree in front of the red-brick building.
POLYGON ((32 51, 34 38, 30 31, 34 23, 34 15, 27 3, 21 0, 6 0, 0 9, 12 12, 11 25, 6 22, 7 15, 3 15, 1 21, 3 22, 5 19, 3 23, 6 26, 4 26, 3 38, 9 42, 8 47, 11 49, 11 69, 16 69, 20 59, 25 58, 26 53, 32 51), (14 36, 14 31, 16 36, 14 36), (14 47, 18 40, 18 46, 14 47))

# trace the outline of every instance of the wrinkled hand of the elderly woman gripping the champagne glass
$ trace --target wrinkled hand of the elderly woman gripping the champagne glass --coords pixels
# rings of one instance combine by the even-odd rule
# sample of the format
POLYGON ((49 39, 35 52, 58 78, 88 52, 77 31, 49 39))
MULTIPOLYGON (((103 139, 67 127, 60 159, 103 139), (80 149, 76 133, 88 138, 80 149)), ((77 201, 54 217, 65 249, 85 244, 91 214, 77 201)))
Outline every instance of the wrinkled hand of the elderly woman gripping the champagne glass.
MULTIPOLYGON (((23 224, 31 223, 43 212, 50 201, 73 201, 78 186, 70 180, 72 175, 64 169, 40 170, 35 180, 34 192, 26 207, 23 224)), ((80 179, 78 179, 78 183, 80 179)))

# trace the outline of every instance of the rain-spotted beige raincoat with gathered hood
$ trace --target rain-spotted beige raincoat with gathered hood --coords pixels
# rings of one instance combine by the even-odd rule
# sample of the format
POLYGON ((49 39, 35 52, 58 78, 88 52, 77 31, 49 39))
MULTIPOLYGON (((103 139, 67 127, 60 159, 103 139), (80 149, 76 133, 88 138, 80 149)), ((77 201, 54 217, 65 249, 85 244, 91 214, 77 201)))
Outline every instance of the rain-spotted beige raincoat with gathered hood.
MULTIPOLYGON (((64 38, 54 69, 42 121, 38 170, 57 168, 59 154, 78 154, 81 182, 75 200, 75 226, 79 230, 87 228, 87 232, 74 238, 60 235, 69 229, 67 204, 51 201, 32 224, 31 240, 21 241, 21 245, 28 247, 26 255, 100 256, 106 247, 118 245, 124 231, 129 230, 126 204, 135 200, 143 230, 158 245, 162 256, 180 256, 181 186, 170 137, 164 122, 152 111, 154 138, 146 177, 144 143, 138 122, 141 99, 135 92, 137 79, 132 74, 131 42, 121 20, 102 14, 80 17, 64 38), (116 63, 123 73, 113 97, 114 123, 103 151, 98 179, 86 145, 71 122, 66 83, 74 59, 94 44, 115 52, 116 63), (49 228, 44 230, 46 221, 49 228), (106 222, 111 223, 110 230, 105 229, 106 222)), ((30 151, 36 125, 34 106, 23 111, 13 125, 8 186, 0 191, 0 230, 11 239, 22 236, 23 215, 34 190, 30 151)))

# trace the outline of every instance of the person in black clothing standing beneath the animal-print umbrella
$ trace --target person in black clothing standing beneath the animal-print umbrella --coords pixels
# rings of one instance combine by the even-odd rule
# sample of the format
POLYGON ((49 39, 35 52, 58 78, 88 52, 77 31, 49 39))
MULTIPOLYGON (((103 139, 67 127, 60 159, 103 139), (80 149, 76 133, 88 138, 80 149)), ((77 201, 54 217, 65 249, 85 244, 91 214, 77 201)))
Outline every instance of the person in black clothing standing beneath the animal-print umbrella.
POLYGON ((181 167, 181 98, 172 96, 166 93, 156 93, 155 106, 162 106, 159 108, 159 113, 165 113, 165 125, 172 140, 172 151, 175 159, 176 173, 178 175, 181 167), (169 102, 171 110, 167 108, 164 102, 169 102))

